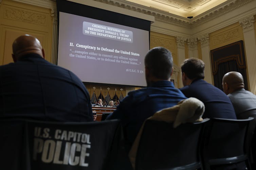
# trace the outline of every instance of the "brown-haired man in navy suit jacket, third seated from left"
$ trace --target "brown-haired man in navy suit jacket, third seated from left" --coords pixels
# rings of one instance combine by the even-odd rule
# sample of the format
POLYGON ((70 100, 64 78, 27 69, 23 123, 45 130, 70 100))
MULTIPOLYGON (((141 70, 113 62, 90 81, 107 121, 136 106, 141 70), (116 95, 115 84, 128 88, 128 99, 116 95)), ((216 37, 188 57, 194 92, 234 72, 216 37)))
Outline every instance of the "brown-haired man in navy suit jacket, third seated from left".
POLYGON ((227 95, 212 84, 204 81, 204 62, 198 58, 185 59, 181 65, 180 90, 187 97, 195 97, 205 105, 203 118, 236 119, 234 107, 227 95))

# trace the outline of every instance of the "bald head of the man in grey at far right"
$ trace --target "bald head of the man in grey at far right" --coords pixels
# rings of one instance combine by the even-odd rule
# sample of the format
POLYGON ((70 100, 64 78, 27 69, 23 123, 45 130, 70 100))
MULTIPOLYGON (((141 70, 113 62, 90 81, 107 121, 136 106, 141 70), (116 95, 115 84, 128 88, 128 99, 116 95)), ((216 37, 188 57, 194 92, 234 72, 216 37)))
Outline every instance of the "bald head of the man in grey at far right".
POLYGON ((226 73, 222 78, 222 87, 226 94, 244 88, 242 74, 236 71, 226 73))

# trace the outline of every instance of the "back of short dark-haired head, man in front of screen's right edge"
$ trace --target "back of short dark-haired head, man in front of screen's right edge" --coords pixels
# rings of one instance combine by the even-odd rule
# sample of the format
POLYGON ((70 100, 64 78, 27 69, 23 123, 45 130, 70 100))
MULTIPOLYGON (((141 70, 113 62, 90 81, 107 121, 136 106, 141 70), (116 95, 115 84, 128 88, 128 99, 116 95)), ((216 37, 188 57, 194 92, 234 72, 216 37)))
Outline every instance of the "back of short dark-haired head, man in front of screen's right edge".
POLYGON ((163 47, 155 47, 145 56, 145 67, 159 79, 167 80, 172 73, 173 59, 171 52, 163 47))

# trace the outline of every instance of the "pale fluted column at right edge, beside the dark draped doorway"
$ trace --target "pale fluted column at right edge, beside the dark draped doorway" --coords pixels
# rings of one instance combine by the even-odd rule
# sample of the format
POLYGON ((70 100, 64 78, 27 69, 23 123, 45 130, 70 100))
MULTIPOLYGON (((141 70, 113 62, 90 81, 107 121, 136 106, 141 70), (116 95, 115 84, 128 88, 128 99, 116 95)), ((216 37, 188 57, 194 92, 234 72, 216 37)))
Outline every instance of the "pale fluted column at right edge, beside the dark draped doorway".
POLYGON ((256 94, 256 40, 255 40, 255 31, 254 31, 254 16, 246 17, 239 21, 239 24, 243 28, 243 37, 244 37, 244 46, 246 53, 246 64, 249 80, 249 90, 256 94))

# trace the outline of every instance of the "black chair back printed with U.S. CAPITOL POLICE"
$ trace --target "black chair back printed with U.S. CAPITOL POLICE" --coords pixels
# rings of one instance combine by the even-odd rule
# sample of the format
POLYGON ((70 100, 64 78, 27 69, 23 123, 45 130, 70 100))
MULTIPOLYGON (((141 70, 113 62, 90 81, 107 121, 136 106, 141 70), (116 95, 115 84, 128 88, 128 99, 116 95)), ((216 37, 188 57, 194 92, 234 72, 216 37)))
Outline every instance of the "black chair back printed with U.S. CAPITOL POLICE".
POLYGON ((0 128, 3 170, 119 170, 128 160, 118 120, 88 123, 2 120, 0 128))

